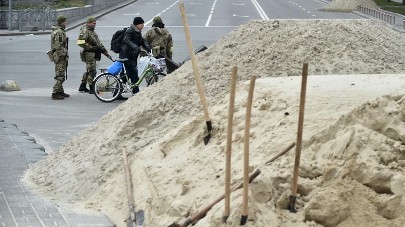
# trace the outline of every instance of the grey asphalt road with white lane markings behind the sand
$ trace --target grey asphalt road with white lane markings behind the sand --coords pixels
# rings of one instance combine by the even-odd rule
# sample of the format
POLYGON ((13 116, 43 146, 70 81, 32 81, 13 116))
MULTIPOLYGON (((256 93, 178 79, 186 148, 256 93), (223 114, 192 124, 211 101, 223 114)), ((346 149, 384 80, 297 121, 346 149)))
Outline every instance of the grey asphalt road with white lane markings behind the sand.
MULTIPOLYGON (((271 19, 354 19, 351 13, 321 12, 325 3, 318 0, 183 0, 190 26, 194 49, 209 47, 221 36, 248 20, 271 19)), ((107 14, 97 21, 96 32, 109 49, 112 34, 132 23, 136 16, 145 20, 144 32, 154 16, 161 16, 174 40, 173 60, 181 62, 189 56, 184 35, 179 1, 138 0, 127 7, 107 14)), ((69 24, 67 25, 69 26, 69 24)), ((95 123, 106 112, 122 101, 103 103, 93 95, 77 91, 85 64, 79 60, 80 47, 76 45, 79 28, 70 30, 68 80, 65 92, 70 98, 51 100, 54 85, 54 65, 45 52, 50 48, 50 35, 0 37, 0 82, 15 80, 21 87, 17 92, 0 92, 0 119, 17 124, 27 131, 46 152, 62 146, 80 131, 95 123)), ((237 51, 237 50, 236 50, 237 51)), ((110 53, 113 57, 117 54, 110 53)), ((97 68, 111 64, 107 58, 97 68)), ((141 90, 145 88, 141 84, 141 90)))

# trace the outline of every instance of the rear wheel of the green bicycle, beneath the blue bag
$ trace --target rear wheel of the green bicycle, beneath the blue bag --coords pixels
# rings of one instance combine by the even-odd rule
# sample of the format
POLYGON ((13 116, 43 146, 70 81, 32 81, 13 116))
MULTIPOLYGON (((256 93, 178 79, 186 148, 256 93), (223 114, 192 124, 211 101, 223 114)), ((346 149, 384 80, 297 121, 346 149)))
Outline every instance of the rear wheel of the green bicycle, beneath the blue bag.
POLYGON ((123 83, 118 76, 103 73, 93 82, 94 95, 102 102, 112 102, 123 92, 123 83))

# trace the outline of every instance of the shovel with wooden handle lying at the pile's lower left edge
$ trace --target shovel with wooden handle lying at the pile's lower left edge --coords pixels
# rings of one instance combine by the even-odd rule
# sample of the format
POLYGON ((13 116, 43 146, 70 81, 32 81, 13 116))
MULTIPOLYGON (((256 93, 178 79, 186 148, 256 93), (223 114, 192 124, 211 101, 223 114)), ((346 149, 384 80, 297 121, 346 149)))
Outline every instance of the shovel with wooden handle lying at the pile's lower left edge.
POLYGON ((131 173, 127 159, 127 148, 125 147, 123 148, 123 156, 124 156, 125 179, 127 182, 128 204, 130 206, 130 216, 128 217, 127 220, 125 220, 125 222, 127 223, 127 227, 142 227, 143 222, 145 221, 145 215, 143 213, 143 210, 139 210, 138 212, 135 213, 134 197, 132 196, 131 173))

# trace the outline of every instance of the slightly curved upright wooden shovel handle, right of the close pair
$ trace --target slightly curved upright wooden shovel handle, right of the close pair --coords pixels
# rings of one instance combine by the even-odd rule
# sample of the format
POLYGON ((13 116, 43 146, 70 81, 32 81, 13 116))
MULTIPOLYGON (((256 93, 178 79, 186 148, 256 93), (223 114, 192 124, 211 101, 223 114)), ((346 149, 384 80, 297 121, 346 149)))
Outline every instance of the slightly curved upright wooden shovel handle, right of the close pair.
POLYGON ((250 116, 252 111, 253 90, 255 89, 256 76, 250 79, 248 101, 246 104, 245 116, 245 135, 244 135, 244 192, 242 203, 242 215, 248 215, 248 189, 249 189, 249 131, 250 131, 250 116))

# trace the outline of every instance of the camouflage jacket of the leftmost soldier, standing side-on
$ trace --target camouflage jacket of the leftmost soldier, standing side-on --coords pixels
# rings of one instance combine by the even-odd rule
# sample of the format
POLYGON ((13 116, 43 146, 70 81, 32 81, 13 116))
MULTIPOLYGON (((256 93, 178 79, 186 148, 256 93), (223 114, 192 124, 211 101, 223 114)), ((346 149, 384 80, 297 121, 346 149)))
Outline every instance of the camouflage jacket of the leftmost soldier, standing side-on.
POLYGON ((54 54, 55 62, 59 62, 62 59, 69 60, 69 54, 66 49, 66 33, 65 27, 56 24, 51 27, 51 51, 54 54))

